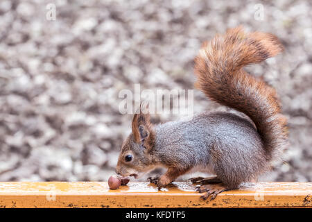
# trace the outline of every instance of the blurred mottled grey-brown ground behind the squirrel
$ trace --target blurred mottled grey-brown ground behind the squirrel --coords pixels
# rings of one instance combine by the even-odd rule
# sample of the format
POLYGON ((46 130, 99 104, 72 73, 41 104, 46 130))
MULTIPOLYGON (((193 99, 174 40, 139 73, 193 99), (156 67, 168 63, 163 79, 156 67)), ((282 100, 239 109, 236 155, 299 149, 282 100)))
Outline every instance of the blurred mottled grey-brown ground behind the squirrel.
MULTIPOLYGON (((1 0, 0 180, 107 180, 130 133, 120 90, 193 89, 200 44, 243 25, 286 49, 248 67, 277 89, 289 118, 285 162, 261 180, 311 181, 311 14, 311 1, 289 0, 1 0)), ((195 112, 215 109, 226 110, 194 91, 195 112)))

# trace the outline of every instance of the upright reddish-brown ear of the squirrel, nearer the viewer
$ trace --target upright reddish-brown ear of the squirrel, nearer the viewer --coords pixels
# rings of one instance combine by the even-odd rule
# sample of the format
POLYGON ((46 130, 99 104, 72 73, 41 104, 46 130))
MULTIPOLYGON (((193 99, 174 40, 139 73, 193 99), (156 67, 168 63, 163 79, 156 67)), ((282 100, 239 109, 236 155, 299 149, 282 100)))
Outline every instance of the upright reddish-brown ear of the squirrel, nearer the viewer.
POLYGON ((138 113, 132 119, 132 134, 137 144, 143 145, 145 148, 152 148, 155 143, 155 132, 153 124, 150 123, 149 113, 138 113))

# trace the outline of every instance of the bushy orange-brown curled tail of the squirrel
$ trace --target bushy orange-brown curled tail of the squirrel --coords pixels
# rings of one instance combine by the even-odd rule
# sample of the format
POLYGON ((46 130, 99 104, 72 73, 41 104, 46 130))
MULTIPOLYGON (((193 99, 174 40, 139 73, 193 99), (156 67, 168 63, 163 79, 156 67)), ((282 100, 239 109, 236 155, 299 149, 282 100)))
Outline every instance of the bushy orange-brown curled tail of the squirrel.
POLYGON ((279 157, 287 144, 286 117, 280 112, 275 89, 242 67, 262 62, 282 50, 274 35, 245 33, 238 27, 205 42, 195 59, 196 85, 209 99, 243 112, 254 121, 268 161, 279 157))

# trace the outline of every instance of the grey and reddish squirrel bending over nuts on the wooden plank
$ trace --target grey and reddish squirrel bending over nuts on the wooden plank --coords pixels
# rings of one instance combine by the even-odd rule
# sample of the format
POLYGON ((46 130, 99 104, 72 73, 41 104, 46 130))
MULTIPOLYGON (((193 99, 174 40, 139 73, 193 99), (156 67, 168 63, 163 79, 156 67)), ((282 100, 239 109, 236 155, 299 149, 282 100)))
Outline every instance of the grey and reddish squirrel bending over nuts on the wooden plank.
POLYGON ((214 178, 191 178, 202 185, 198 191, 206 192, 204 199, 239 189, 243 182, 257 182, 288 145, 287 120, 275 89, 243 67, 283 49, 275 35, 245 33, 241 26, 204 42, 195 58, 196 87, 211 101, 247 117, 203 112, 189 121, 153 125, 148 112, 137 113, 132 133, 121 146, 116 173, 138 178, 165 167, 164 175, 148 178, 159 188, 194 169, 213 173, 214 178))

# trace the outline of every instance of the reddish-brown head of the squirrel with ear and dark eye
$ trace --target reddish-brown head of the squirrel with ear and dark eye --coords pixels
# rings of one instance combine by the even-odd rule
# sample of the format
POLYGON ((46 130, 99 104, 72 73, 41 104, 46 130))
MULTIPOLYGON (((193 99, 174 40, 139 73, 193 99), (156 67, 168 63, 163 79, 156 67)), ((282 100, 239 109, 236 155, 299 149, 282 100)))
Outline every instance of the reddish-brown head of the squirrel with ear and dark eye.
POLYGON ((121 176, 139 178, 155 168, 150 151, 155 146, 155 131, 150 123, 150 114, 140 112, 132 119, 132 133, 123 142, 116 166, 116 173, 121 176))

